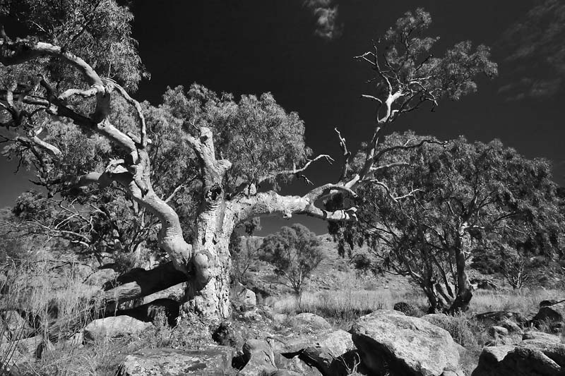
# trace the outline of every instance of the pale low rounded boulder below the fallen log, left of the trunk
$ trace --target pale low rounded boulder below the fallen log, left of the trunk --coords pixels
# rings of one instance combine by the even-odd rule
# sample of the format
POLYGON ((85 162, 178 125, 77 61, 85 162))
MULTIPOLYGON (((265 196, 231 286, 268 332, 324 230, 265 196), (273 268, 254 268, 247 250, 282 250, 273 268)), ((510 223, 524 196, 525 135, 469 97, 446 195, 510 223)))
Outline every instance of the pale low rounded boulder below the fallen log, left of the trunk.
POLYGON ((129 316, 113 316, 94 320, 84 328, 84 341, 97 342, 104 339, 138 334, 153 327, 150 322, 136 320, 129 316))

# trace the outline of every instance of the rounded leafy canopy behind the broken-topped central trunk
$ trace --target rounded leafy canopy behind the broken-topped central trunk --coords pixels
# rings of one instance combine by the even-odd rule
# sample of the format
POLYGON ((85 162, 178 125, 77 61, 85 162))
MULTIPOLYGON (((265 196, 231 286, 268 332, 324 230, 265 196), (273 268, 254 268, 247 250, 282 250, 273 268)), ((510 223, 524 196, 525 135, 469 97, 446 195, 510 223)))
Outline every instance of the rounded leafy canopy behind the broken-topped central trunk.
POLYGON ((242 183, 268 183, 278 187, 278 172, 292 169, 311 154, 304 140, 304 121, 287 113, 273 95, 242 95, 237 102, 228 93, 218 95, 202 85, 189 90, 177 86, 163 95, 160 109, 194 133, 208 127, 214 133, 218 158, 232 162, 231 188, 242 183))

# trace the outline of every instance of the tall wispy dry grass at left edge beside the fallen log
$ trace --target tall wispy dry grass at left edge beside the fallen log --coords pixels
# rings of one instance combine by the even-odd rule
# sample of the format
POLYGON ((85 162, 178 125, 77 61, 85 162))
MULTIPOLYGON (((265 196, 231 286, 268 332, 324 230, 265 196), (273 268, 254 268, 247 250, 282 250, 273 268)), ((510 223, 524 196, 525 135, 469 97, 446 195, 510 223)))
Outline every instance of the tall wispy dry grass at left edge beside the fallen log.
POLYGON ((12 329, 11 336, 0 336, 1 364, 9 365, 10 358, 18 356, 26 359, 19 367, 25 375, 114 374, 121 360, 119 354, 131 351, 131 339, 106 341, 88 348, 66 341, 88 324, 87 320, 92 320, 84 313, 97 311, 91 298, 98 289, 83 283, 85 276, 81 270, 84 268, 73 262, 63 265, 52 260, 4 263, 0 269, 0 312, 18 310, 28 322, 15 331, 12 329), (35 335, 37 344, 49 344, 49 328, 61 317, 65 318, 65 325, 57 327, 55 336, 59 341, 46 346, 41 359, 23 351, 20 344, 17 347, 23 356, 18 355, 22 351, 17 351, 16 344, 25 334, 35 335))

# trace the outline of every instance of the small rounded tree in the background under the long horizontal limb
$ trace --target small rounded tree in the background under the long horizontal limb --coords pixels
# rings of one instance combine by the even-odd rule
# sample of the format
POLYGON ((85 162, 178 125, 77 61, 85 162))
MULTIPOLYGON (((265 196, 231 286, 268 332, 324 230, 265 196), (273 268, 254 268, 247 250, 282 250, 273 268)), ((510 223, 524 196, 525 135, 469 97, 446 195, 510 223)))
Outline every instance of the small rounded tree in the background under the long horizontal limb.
POLYGON ((275 273, 283 277, 285 286, 302 294, 302 287, 322 260, 320 241, 316 234, 302 224, 283 227, 271 234, 261 245, 261 260, 273 265, 275 273))

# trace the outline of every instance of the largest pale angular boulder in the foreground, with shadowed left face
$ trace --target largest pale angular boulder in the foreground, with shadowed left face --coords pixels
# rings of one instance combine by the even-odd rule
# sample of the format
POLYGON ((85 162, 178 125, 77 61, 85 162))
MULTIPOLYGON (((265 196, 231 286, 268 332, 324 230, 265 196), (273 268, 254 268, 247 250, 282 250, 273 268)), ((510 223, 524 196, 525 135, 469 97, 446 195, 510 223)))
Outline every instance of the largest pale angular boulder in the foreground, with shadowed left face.
POLYGON ((449 333, 426 320, 378 310, 359 317, 350 332, 362 363, 374 374, 463 375, 449 333))

